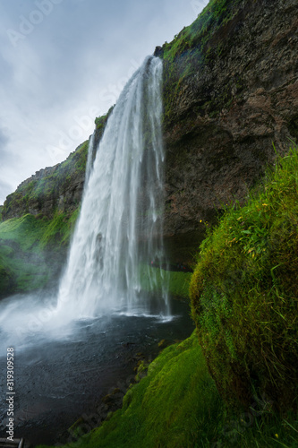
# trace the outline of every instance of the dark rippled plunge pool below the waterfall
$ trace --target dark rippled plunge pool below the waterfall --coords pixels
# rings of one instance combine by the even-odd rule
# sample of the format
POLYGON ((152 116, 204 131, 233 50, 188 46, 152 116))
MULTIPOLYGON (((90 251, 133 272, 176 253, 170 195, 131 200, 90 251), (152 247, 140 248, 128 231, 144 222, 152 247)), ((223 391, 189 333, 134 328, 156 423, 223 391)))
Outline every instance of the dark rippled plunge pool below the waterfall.
MULTIPOLYGON (((68 428, 76 420, 81 418, 84 431, 98 425, 120 405, 134 367, 158 354, 158 342, 165 340, 165 346, 192 333, 189 314, 188 304, 172 300, 167 319, 115 313, 77 321, 62 339, 38 337, 37 332, 27 346, 14 346, 14 437, 33 445, 61 444, 74 440, 68 428), (109 398, 102 401, 108 394, 110 403, 109 398)), ((6 437, 4 350, 1 355, 0 436, 6 437)))

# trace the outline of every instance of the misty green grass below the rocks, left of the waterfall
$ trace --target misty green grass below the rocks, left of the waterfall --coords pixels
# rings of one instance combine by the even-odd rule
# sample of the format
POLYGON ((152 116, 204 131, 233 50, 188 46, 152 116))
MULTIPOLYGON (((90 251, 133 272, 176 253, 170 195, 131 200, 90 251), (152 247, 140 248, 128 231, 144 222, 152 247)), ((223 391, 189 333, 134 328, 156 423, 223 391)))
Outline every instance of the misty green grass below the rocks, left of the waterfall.
POLYGON ((0 295, 47 285, 64 261, 79 209, 53 220, 26 214, 0 224, 0 295))

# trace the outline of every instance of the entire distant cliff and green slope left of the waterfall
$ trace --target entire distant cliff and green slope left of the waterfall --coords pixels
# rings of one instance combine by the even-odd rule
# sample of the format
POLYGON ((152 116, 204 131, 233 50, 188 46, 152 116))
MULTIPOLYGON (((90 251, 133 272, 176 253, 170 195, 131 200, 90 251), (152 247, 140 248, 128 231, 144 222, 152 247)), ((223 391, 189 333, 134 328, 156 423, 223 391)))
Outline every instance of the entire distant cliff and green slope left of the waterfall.
MULTIPOLYGON (((97 142, 106 119, 96 119, 97 142)), ((38 171, 1 206, 0 297, 49 286, 59 275, 80 211, 88 147, 83 142, 64 162, 38 171)))

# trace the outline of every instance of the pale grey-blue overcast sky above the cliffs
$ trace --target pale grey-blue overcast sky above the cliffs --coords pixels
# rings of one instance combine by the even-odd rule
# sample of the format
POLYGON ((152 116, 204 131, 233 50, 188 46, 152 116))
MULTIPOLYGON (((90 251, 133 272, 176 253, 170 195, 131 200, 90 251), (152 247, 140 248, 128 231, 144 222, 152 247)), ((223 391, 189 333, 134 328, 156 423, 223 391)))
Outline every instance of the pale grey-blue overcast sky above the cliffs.
POLYGON ((0 204, 89 138, 155 47, 207 0, 0 0, 0 204))

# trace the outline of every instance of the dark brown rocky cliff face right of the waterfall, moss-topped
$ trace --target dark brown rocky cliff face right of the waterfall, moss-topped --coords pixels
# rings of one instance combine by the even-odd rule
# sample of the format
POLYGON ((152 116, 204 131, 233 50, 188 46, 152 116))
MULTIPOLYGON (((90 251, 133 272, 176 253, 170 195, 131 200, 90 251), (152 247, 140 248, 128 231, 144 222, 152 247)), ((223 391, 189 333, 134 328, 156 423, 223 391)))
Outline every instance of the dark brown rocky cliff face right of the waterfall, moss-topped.
POLYGON ((165 61, 166 234, 241 202, 298 137, 295 0, 210 1, 165 61))

